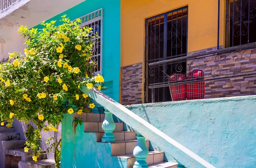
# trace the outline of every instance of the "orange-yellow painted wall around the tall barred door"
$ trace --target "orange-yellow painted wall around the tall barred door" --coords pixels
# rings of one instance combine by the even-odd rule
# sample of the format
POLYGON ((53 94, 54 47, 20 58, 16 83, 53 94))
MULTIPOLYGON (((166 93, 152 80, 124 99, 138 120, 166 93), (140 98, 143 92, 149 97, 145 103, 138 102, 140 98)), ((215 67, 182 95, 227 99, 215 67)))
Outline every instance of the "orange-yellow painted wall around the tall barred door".
MULTIPOLYGON (((224 43, 220 0, 220 46, 224 43)), ((188 52, 217 46, 218 0, 121 0, 121 67, 144 61, 145 20, 188 5, 188 52)))

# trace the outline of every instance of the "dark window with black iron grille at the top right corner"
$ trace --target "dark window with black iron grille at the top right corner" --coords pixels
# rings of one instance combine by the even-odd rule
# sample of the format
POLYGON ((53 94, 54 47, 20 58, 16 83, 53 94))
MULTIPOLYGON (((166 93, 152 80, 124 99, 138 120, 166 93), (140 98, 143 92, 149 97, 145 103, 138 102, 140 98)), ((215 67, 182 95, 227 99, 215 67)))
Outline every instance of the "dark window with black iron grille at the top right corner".
POLYGON ((256 0, 226 0, 226 47, 256 42, 256 0))

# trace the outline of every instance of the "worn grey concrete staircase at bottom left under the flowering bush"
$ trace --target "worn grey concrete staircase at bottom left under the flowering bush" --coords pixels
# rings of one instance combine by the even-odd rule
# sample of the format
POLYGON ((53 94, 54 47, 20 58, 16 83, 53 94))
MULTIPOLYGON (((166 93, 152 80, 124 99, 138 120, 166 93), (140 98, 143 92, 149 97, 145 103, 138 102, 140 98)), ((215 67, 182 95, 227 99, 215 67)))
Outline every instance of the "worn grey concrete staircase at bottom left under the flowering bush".
POLYGON ((0 127, 0 168, 55 168, 54 160, 47 159, 45 151, 40 151, 38 161, 32 159, 33 151, 24 152, 25 140, 13 127, 0 127))

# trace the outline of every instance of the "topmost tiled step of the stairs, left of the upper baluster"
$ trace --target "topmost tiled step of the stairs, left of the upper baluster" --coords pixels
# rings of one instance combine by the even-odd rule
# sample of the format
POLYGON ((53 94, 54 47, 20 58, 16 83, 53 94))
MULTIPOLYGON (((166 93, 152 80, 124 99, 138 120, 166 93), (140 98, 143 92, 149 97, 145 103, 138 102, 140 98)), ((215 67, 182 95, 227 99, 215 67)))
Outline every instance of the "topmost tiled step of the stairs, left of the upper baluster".
POLYGON ((73 114, 74 118, 82 118, 83 122, 103 122, 105 118, 105 114, 103 113, 82 113, 78 115, 77 113, 73 114))

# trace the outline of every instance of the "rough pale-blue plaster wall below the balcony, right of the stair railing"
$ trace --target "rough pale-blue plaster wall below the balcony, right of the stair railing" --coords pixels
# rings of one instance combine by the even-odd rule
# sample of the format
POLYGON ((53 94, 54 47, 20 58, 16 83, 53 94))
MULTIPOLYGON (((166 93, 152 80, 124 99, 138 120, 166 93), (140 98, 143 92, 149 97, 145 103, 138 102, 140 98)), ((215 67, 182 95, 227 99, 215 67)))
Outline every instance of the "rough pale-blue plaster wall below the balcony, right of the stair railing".
POLYGON ((255 95, 126 107, 216 168, 256 167, 255 95))

